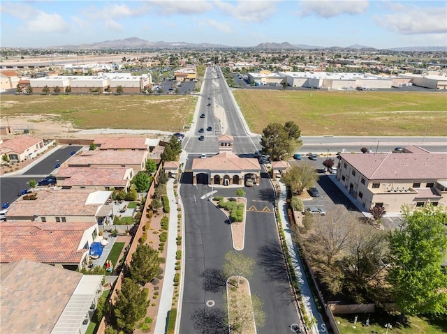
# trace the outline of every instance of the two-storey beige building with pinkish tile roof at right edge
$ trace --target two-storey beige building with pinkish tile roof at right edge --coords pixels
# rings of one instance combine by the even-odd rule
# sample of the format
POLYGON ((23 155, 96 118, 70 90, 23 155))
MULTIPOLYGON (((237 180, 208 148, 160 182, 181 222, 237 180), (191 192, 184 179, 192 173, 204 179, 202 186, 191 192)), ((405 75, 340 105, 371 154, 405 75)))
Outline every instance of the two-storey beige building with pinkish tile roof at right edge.
POLYGON ((446 206, 447 153, 379 153, 340 155, 337 180, 368 211, 387 213, 410 207, 446 206))

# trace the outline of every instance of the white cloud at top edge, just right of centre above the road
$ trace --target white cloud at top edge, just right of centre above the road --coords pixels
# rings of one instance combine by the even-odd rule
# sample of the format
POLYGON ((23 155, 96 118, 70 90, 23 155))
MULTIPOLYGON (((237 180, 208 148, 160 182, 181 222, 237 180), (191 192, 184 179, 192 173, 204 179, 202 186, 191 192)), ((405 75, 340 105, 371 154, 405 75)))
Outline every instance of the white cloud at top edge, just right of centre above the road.
POLYGON ((276 12, 276 3, 277 1, 239 1, 233 5, 225 1, 216 1, 214 6, 240 21, 263 22, 276 12))

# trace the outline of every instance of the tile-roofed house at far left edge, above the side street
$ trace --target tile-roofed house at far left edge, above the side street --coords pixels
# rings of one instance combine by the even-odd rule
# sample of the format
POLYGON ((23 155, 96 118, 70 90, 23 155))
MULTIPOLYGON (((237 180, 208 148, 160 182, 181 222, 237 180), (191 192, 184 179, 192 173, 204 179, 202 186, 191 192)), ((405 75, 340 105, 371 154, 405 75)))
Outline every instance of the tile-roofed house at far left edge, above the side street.
POLYGON ((0 154, 8 155, 10 161, 24 161, 36 158, 45 148, 43 139, 21 135, 0 144, 0 154))

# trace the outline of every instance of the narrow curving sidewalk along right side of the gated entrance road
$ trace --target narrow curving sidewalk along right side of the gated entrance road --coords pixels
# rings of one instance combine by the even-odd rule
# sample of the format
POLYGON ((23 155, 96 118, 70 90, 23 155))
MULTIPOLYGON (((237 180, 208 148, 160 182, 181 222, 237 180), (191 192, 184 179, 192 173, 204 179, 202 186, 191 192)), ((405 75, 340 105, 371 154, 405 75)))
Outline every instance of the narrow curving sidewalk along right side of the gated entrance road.
POLYGON ((305 311, 310 318, 315 317, 316 319, 316 324, 314 327, 312 327, 312 333, 317 334, 318 328, 325 328, 324 326, 322 326, 324 324, 324 321, 321 317, 321 314, 318 312, 318 308, 316 308, 314 296, 312 295, 312 290, 309 287, 309 282, 307 281, 307 277, 304 271, 304 265, 302 264, 298 249, 296 248, 295 243, 293 243, 291 225, 288 221, 287 215, 286 185, 284 185, 281 180, 279 180, 278 183, 281 188, 278 202, 279 214, 281 215, 281 225, 284 229, 284 235, 286 236, 286 243, 289 255, 291 256, 293 264, 295 264, 295 275, 298 280, 298 286, 300 287, 302 302, 305 305, 305 311))

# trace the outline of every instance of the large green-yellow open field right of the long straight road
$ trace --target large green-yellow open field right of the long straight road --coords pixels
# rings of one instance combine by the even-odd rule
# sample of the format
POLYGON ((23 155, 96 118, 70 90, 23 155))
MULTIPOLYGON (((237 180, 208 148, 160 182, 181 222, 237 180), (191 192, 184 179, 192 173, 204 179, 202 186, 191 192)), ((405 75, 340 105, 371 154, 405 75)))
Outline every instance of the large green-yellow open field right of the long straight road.
POLYGON ((233 91, 251 132, 295 121, 301 135, 447 135, 447 92, 233 91))

